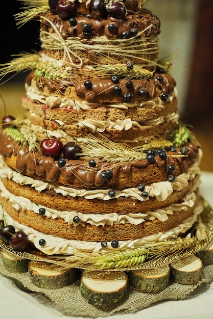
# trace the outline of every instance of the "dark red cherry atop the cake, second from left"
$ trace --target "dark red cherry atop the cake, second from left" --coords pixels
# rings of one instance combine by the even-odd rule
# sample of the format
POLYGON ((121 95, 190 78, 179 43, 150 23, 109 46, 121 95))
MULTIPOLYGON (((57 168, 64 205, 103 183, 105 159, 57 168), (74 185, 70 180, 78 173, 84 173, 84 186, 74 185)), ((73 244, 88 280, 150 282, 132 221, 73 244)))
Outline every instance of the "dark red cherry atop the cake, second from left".
POLYGON ((62 20, 68 20, 78 15, 76 4, 69 0, 59 0, 56 12, 62 20))

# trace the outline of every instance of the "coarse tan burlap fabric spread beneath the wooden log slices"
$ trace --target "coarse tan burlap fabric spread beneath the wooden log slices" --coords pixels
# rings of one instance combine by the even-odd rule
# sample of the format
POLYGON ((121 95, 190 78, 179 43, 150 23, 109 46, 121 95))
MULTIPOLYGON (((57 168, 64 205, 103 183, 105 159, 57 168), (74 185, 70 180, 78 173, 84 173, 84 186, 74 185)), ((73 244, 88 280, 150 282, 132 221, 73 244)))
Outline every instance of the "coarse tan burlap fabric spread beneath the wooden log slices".
MULTIPOLYGON (((114 314, 133 314, 139 310, 145 309, 150 305, 159 301, 181 300, 190 297, 192 292, 204 283, 213 281, 213 264, 205 265, 202 268, 202 279, 196 285, 182 285, 178 283, 170 283, 163 291, 157 294, 144 294, 129 287, 123 302, 116 308, 96 308, 89 305, 81 296, 79 289, 79 281, 67 287, 55 290, 41 289, 32 284, 28 273, 15 274, 8 272, 0 258, 0 272, 12 279, 18 280, 22 285, 30 289, 34 293, 39 293, 43 298, 48 297, 50 306, 52 303, 55 307, 65 315, 72 317, 107 317, 114 314)), ((46 304, 46 303, 45 303, 46 304)))

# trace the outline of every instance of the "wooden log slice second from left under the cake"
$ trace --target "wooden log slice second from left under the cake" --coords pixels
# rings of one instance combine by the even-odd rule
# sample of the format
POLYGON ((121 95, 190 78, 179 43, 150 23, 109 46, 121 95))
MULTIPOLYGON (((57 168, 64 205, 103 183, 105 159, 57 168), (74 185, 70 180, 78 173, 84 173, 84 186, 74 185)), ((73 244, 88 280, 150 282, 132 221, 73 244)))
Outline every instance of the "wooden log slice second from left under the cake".
POLYGON ((33 284, 43 289, 59 289, 74 282, 76 270, 53 267, 52 263, 30 261, 28 271, 33 284))

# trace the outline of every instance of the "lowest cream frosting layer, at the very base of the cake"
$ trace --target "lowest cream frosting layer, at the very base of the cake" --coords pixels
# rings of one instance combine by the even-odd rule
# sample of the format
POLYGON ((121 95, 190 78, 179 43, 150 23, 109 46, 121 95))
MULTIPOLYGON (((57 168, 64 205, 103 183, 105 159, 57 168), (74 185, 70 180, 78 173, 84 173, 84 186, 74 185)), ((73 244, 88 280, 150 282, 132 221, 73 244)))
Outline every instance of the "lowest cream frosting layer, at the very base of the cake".
POLYGON ((193 224, 197 220, 197 216, 202 212, 203 205, 200 202, 197 207, 194 210, 193 216, 190 218, 187 218, 182 224, 163 232, 159 232, 155 235, 146 236, 143 238, 139 238, 137 240, 129 240, 129 241, 119 241, 119 247, 114 249, 111 247, 111 242, 107 242, 107 247, 102 248, 101 242, 88 242, 88 241, 76 241, 76 240, 66 240, 61 237, 56 237, 53 235, 47 235, 40 233, 36 230, 34 230, 32 227, 27 227, 25 225, 22 225, 16 221, 14 221, 6 211, 0 211, 0 220, 4 219, 7 225, 14 225, 16 230, 23 230, 29 238, 29 241, 34 243, 35 247, 42 251, 43 253, 47 255, 53 255, 53 254, 79 254, 81 252, 88 252, 88 253, 95 253, 95 252, 109 252, 109 251, 116 251, 119 252, 121 250, 128 250, 137 248, 140 245, 146 244, 146 243, 155 243, 159 241, 164 241, 169 238, 174 238, 175 236, 178 236, 180 233, 184 233, 188 229, 190 229, 193 224), (39 241, 41 239, 44 239, 46 242, 46 245, 44 247, 41 247, 39 245, 39 241))

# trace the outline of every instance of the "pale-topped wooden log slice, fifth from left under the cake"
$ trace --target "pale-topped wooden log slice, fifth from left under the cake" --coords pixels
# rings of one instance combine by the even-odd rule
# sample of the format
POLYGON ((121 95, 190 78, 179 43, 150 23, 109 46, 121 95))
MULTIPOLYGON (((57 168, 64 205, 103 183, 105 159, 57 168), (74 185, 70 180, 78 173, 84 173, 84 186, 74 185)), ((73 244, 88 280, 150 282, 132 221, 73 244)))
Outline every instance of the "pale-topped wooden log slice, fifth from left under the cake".
POLYGON ((201 279, 202 261, 195 255, 171 263, 170 279, 183 285, 198 283, 201 279))

